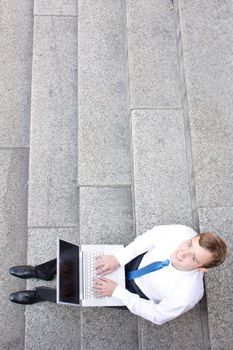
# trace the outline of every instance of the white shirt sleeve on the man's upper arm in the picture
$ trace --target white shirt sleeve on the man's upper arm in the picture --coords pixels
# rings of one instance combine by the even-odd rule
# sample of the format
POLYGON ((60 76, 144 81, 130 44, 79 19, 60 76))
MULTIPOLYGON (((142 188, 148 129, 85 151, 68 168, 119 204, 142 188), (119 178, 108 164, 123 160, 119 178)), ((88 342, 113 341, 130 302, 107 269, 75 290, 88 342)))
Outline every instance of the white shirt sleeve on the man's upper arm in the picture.
POLYGON ((153 249, 162 233, 166 231, 166 227, 167 225, 154 226, 151 230, 138 236, 132 243, 115 253, 114 256, 120 265, 123 266, 136 256, 153 249))

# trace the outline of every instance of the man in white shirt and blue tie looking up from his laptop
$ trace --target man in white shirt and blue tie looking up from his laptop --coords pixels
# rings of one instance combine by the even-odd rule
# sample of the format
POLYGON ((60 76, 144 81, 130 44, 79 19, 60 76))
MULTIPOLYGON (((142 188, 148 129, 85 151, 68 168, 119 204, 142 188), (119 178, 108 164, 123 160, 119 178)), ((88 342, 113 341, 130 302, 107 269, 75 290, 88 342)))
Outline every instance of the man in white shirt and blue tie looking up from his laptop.
MULTIPOLYGON (((226 244, 215 233, 197 235, 184 225, 155 226, 115 255, 97 259, 96 268, 101 276, 125 265, 126 289, 105 277, 94 282, 94 289, 101 296, 121 300, 132 313, 162 325, 198 303, 204 292, 203 274, 208 268, 220 265, 225 257, 226 244), (148 272, 148 265, 155 261, 166 263, 160 264, 159 270, 148 272), (135 271, 139 276, 131 278, 135 271)), ((20 267, 14 267, 10 272, 22 278, 20 267)), ((23 273, 25 278, 25 267, 23 273)), ((20 302, 22 293, 27 292, 32 291, 17 292, 20 295, 13 293, 10 299, 20 302)), ((29 301, 41 300, 45 299, 34 295, 29 301)))

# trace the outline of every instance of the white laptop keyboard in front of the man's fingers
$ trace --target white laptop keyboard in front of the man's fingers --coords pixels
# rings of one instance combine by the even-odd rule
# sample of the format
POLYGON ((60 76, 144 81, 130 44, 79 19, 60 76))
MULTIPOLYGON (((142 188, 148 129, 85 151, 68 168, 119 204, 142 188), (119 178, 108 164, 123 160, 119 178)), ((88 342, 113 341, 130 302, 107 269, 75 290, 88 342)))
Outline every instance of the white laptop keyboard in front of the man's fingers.
POLYGON ((103 255, 103 252, 85 251, 85 254, 84 254, 84 271, 85 271, 84 298, 85 299, 103 298, 99 296, 96 293, 96 291, 94 291, 93 289, 93 282, 98 277, 95 269, 96 258, 100 255, 103 255))

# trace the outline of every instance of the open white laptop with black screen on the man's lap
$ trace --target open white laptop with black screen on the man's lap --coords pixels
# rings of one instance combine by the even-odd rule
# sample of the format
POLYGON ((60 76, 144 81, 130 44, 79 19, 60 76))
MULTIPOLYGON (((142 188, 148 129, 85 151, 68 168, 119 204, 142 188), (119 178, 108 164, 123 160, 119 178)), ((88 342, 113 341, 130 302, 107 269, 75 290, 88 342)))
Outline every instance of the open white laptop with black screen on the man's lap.
MULTIPOLYGON (((123 247, 123 245, 76 245, 57 238, 57 304, 91 307, 124 305, 113 297, 100 297, 93 290, 96 257, 113 255, 123 247)), ((125 288, 124 266, 104 277, 125 288)))

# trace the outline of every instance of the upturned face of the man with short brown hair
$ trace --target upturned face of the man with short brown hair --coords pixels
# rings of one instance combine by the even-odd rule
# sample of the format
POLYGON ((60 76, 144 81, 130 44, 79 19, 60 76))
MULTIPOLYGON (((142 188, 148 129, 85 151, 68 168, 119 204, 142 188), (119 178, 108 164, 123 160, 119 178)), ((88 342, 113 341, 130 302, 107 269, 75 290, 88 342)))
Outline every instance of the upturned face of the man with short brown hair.
POLYGON ((206 272, 207 269, 201 268, 202 265, 212 260, 212 254, 207 249, 199 245, 199 236, 184 241, 171 254, 172 265, 181 271, 191 271, 198 269, 206 272))

